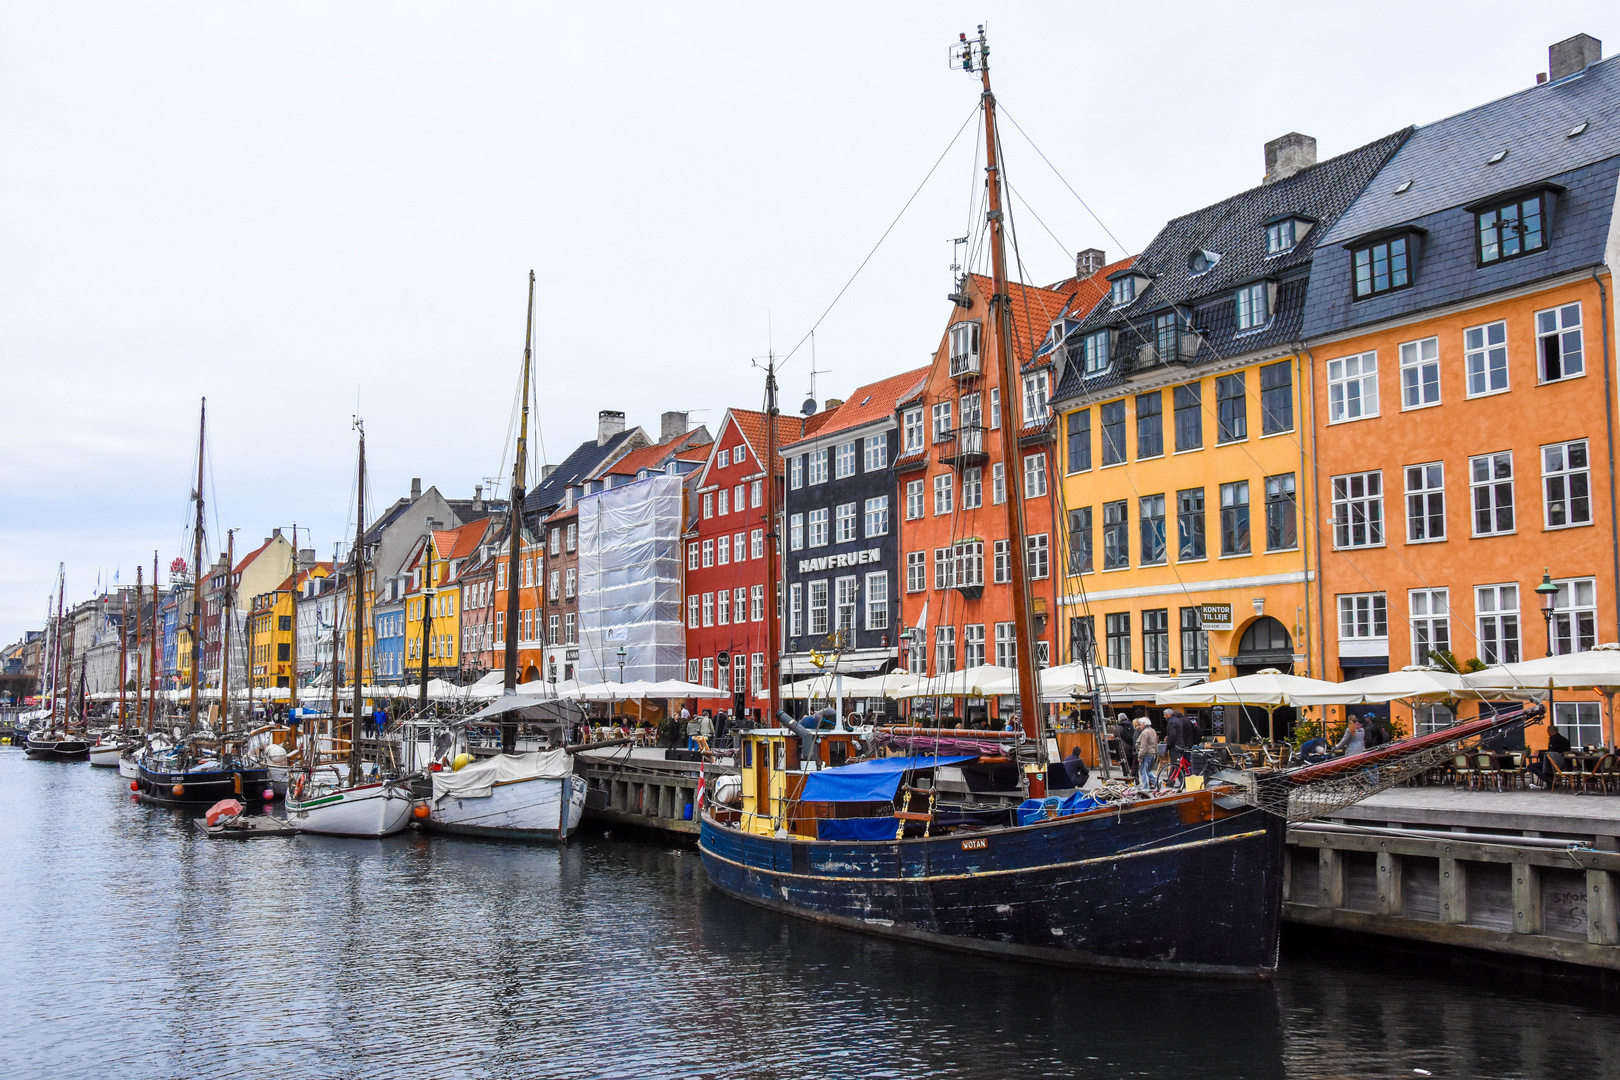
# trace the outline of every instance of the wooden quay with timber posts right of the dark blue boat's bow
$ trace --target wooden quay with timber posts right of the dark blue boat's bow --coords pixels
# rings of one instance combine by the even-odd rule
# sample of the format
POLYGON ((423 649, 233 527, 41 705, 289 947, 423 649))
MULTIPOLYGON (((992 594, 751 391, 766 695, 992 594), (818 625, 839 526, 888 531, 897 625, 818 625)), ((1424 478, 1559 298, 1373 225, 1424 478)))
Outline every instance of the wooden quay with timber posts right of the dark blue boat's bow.
POLYGON ((1291 923, 1620 972, 1620 798, 1395 789, 1288 845, 1291 923))

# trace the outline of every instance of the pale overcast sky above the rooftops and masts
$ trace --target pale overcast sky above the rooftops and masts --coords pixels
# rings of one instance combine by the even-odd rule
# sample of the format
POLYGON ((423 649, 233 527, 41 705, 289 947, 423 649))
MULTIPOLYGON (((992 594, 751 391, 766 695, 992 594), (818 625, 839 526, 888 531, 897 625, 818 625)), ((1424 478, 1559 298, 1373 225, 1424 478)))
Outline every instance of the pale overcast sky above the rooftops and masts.
POLYGON ((0 643, 58 562, 73 602, 190 554, 202 397, 211 549, 330 557, 356 415, 374 507, 504 489, 530 269, 539 461, 599 410, 714 431, 768 351, 791 410, 812 327, 818 400, 925 364, 978 23, 1035 283, 1254 186, 1267 139, 1330 157, 1620 49, 1575 2, 0 0, 0 643))

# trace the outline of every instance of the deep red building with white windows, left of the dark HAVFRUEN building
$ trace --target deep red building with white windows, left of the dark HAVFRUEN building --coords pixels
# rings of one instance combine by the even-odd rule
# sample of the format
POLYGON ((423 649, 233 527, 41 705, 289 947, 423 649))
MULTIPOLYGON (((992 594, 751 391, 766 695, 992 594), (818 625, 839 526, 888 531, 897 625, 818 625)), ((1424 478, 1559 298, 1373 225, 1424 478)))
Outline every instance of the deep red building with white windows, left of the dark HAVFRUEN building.
MULTIPOLYGON (((812 434, 829 411, 778 416, 776 445, 812 434)), ((753 708, 771 654, 765 636, 765 436, 766 415, 727 410, 687 507, 687 680, 732 690, 732 711, 753 708), (747 696, 744 696, 747 695, 747 696)), ((782 495, 782 458, 773 470, 782 495)))

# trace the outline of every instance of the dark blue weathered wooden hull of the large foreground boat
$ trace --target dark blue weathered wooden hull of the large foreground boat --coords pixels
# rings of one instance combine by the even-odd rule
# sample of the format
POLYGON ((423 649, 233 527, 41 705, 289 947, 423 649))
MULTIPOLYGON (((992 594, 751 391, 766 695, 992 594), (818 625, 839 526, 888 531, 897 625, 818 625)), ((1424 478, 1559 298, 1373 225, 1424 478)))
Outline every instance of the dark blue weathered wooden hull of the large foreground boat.
POLYGON ((721 891, 849 929, 1045 963, 1267 978, 1286 824, 1221 814, 1189 793, 897 842, 752 836, 705 816, 698 848, 721 891))

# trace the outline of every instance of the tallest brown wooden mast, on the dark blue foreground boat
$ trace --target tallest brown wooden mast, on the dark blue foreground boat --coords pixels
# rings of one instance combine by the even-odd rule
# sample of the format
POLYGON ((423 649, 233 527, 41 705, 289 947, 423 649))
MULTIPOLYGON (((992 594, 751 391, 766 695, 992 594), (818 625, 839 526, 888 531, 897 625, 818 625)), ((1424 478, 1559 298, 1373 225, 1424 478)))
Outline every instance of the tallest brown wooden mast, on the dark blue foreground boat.
POLYGON ((1024 476, 1017 437, 1022 427, 1019 416, 1019 371, 1013 356, 1013 303, 1008 293, 1006 230, 1001 212, 1001 144, 996 141, 996 96, 990 91, 990 45, 985 28, 978 28, 978 40, 961 34, 956 49, 962 70, 977 73, 983 84, 985 112, 985 172, 988 173, 990 220, 990 269, 993 291, 990 296, 990 322, 996 335, 996 376, 1001 382, 1001 471, 1006 484, 1006 513, 1013 572, 1013 633, 1017 643, 1017 698, 1024 735, 1040 740, 1040 696, 1035 693, 1035 635, 1030 631, 1029 609, 1029 529, 1024 521, 1024 476))

